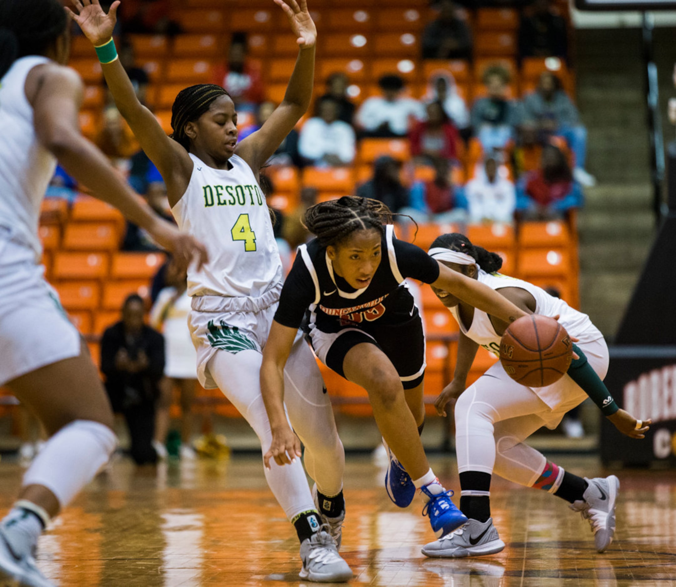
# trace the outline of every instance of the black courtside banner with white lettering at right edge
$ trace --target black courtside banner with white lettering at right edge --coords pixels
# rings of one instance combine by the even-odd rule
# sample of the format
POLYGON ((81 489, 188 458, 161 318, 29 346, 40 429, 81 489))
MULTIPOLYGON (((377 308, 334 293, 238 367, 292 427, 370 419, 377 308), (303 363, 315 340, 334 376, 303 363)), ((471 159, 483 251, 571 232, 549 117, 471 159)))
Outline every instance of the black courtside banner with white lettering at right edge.
POLYGON ((644 440, 633 440, 602 417, 603 463, 676 467, 676 347, 610 347, 605 383, 621 408, 652 418, 652 426, 644 440))

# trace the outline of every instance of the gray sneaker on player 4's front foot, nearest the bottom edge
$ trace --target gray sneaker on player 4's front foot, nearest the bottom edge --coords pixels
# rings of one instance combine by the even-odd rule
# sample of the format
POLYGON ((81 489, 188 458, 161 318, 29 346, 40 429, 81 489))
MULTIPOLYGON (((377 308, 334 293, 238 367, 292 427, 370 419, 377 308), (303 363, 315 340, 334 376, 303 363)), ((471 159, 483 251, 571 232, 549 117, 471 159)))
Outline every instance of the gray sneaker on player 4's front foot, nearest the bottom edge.
POLYGON ((341 559, 326 524, 300 545, 303 568, 300 578, 318 583, 343 583, 352 579, 352 569, 341 559))

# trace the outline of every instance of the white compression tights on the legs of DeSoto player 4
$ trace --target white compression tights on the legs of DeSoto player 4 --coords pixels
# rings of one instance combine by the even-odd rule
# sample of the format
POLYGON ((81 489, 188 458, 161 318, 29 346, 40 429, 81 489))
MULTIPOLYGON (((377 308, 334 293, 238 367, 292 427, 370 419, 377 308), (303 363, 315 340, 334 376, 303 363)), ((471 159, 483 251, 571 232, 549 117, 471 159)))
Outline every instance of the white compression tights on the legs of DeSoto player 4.
MULTIPOLYGON (((216 384, 258 434, 266 453, 272 443, 270 422, 260 392, 262 355, 257 351, 218 351, 208 369, 216 384)), ((308 474, 320 492, 335 495, 343 487, 345 452, 333 419, 333 409, 323 392, 322 377, 312 352, 302 338, 293 346, 284 371, 284 401, 291 426, 305 445, 308 474)), ((287 517, 314 509, 308 480, 299 460, 277 465, 270 460, 266 480, 287 517)))

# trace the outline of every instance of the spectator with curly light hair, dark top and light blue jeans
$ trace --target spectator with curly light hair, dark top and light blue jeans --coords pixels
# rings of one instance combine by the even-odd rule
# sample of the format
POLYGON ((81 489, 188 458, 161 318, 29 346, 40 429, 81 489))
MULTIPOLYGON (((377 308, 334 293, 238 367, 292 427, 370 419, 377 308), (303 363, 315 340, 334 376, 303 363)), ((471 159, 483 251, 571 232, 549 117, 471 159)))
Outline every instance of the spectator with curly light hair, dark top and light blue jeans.
POLYGON ((500 65, 490 66, 483 74, 487 97, 475 101, 471 120, 485 153, 505 149, 521 123, 521 108, 516 101, 507 99, 509 82, 510 73, 500 65))

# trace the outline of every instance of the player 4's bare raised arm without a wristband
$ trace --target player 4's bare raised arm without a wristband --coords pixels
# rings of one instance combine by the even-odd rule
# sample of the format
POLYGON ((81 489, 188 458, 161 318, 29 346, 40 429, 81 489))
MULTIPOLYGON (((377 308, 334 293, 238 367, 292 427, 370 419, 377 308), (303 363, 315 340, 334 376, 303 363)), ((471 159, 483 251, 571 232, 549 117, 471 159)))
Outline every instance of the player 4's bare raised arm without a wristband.
POLYGON ((249 163, 249 167, 258 174, 258 170, 272 156, 277 147, 301 117, 306 113, 312 99, 314 85, 314 52, 317 29, 308 12, 306 0, 274 0, 281 7, 291 29, 297 37, 300 47, 295 68, 289 79, 287 92, 282 103, 270 115, 265 124, 245 138, 235 149, 235 153, 249 163))

